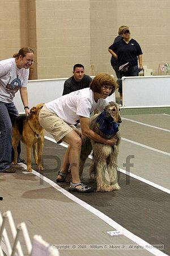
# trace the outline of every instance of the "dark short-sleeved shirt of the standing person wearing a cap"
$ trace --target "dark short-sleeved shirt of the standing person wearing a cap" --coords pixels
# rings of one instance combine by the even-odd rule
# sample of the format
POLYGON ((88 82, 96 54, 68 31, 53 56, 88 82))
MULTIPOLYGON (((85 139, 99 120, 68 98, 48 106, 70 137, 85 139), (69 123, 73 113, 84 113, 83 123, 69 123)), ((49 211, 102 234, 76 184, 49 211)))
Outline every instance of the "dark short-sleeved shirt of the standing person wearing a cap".
POLYGON ((109 49, 112 49, 113 52, 117 53, 118 66, 121 66, 127 62, 129 62, 130 66, 138 65, 137 56, 142 54, 141 47, 133 38, 130 39, 128 44, 121 39, 117 43, 113 43, 109 49))

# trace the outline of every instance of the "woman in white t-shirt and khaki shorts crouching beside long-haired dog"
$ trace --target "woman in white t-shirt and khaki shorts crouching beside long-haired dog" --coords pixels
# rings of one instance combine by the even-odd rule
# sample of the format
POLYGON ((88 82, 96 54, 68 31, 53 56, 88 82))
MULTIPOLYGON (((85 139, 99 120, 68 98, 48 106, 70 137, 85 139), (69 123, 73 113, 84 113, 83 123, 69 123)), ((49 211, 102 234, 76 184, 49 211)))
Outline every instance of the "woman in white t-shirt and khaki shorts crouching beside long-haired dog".
POLYGON ((82 135, 99 143, 109 146, 115 145, 117 143, 116 138, 103 138, 90 129, 90 113, 96 109, 103 110, 109 103, 107 97, 116 89, 117 84, 112 76, 99 73, 91 81, 90 88, 76 90, 50 101, 40 110, 40 125, 53 135, 56 142, 64 141, 69 144, 56 180, 57 182, 65 182, 70 167, 72 180, 69 191, 80 193, 94 191, 80 181, 79 161, 82 139, 81 134, 77 132, 73 124, 80 122, 82 135))

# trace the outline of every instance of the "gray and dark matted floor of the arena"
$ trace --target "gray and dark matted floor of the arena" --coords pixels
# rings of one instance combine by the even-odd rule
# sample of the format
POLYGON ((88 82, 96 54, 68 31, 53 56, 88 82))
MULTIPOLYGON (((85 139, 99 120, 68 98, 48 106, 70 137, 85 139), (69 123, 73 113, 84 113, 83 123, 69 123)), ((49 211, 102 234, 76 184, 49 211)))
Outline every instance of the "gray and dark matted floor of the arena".
MULTIPOLYGON (((169 115, 124 115, 124 118, 167 130, 170 127, 169 115)), ((15 174, 0 174, 1 213, 11 210, 16 224, 25 222, 31 238, 40 234, 52 245, 131 246, 131 249, 125 247, 126 250, 123 247, 121 250, 101 247, 60 250, 60 255, 170 255, 170 133, 126 119, 120 127, 119 167, 125 169, 127 156, 134 155, 130 173, 151 184, 120 173, 121 191, 72 195, 67 191, 69 184, 59 187, 54 182, 65 148, 45 140, 43 180, 36 172, 25 174, 20 166, 15 174), (124 232, 118 236, 107 233, 119 229, 124 232), (132 250, 141 239, 151 245, 164 245, 164 250, 137 250, 136 247, 132 250)), ((25 158, 24 147, 22 154, 25 158)), ((95 188, 87 172, 84 180, 95 188)))

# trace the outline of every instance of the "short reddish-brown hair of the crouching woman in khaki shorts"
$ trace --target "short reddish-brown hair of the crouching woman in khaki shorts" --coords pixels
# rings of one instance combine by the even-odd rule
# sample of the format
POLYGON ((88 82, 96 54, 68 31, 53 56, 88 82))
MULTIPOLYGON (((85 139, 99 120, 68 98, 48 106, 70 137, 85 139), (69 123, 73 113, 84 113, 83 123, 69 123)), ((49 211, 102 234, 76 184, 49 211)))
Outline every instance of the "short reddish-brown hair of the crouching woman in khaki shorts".
POLYGON ((106 73, 99 73, 97 74, 94 79, 90 83, 90 89, 93 92, 101 93, 101 87, 103 85, 112 86, 113 89, 109 96, 112 95, 113 92, 117 89, 118 85, 116 81, 114 81, 113 77, 111 75, 108 75, 106 73))

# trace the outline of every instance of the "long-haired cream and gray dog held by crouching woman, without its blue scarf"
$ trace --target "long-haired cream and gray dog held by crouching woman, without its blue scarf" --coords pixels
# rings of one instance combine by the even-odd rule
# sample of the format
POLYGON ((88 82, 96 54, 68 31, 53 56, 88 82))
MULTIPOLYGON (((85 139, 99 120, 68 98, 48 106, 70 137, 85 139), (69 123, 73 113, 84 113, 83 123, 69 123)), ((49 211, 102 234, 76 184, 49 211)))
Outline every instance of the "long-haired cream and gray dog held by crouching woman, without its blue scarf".
MULTIPOLYGON (((109 102, 109 105, 105 107, 105 113, 112 117, 113 121, 116 123, 121 123, 120 117, 120 106, 115 102, 109 102)), ((96 120, 99 114, 95 114, 90 118, 90 128, 94 130, 97 134, 105 138, 105 135, 99 127, 96 125, 96 120)), ((118 156, 118 145, 120 144, 120 132, 112 135, 112 137, 117 138, 116 146, 107 146, 106 144, 101 144, 95 142, 92 139, 86 137, 82 138, 82 150, 80 154, 80 168, 79 174, 82 175, 84 163, 92 150, 92 161, 90 166, 90 177, 96 179, 97 191, 113 191, 120 189, 117 183, 117 156, 118 156)))

